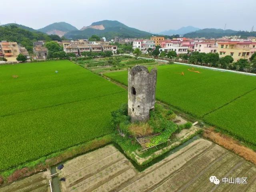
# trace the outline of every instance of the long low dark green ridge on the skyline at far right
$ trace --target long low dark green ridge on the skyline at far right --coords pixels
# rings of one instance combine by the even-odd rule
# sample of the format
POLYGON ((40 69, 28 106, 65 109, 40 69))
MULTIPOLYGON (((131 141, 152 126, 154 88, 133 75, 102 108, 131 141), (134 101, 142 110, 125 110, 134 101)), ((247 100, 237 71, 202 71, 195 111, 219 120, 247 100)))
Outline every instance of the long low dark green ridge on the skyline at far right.
POLYGON ((247 31, 235 31, 231 29, 223 30, 223 29, 215 29, 215 28, 206 28, 200 29, 195 32, 186 33, 183 36, 188 38, 219 38, 223 36, 241 36, 241 38, 247 38, 249 36, 256 36, 256 32, 247 32, 247 31))

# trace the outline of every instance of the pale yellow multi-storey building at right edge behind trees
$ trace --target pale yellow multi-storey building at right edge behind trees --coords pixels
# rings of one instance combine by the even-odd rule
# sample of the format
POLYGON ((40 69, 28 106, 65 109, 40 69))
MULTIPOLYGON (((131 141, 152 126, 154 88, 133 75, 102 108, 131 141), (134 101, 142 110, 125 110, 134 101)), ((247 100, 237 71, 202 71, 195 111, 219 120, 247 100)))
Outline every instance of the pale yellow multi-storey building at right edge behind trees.
POLYGON ((253 54, 253 42, 218 42, 217 52, 220 57, 232 56, 234 62, 239 59, 249 59, 253 54))

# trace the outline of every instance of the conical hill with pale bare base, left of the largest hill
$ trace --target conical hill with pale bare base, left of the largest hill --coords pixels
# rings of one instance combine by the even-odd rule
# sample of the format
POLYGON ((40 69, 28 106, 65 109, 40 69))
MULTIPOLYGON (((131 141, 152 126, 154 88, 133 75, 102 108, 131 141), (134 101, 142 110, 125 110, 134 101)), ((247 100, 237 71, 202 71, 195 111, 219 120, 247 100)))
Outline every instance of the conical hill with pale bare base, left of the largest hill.
POLYGON ((38 31, 47 33, 47 34, 56 34, 59 36, 63 36, 69 31, 76 31, 78 30, 76 27, 66 23, 66 22, 57 22, 50 24, 44 28, 38 29, 38 31))

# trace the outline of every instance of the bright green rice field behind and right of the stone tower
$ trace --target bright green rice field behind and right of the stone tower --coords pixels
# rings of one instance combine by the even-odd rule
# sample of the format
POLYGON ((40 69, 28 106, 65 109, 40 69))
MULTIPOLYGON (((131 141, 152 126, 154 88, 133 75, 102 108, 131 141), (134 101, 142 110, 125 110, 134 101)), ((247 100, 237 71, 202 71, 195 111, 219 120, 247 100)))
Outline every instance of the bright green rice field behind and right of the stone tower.
MULTIPOLYGON (((158 100, 256 146, 255 76, 192 69, 178 64, 158 66, 157 69, 158 100)), ((127 85, 127 74, 125 70, 104 75, 127 85)))

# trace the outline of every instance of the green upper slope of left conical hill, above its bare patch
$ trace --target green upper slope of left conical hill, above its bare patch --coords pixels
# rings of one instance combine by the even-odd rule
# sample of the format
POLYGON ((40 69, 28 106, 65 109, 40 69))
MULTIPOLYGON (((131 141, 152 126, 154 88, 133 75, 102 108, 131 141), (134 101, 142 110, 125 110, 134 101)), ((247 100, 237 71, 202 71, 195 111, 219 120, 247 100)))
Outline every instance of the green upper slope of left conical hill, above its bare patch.
POLYGON ((74 30, 78 30, 78 29, 66 22, 52 23, 48 26, 45 26, 44 28, 38 29, 38 31, 41 31, 44 33, 50 32, 52 30, 60 30, 60 31, 68 32, 68 31, 74 31, 74 30))

